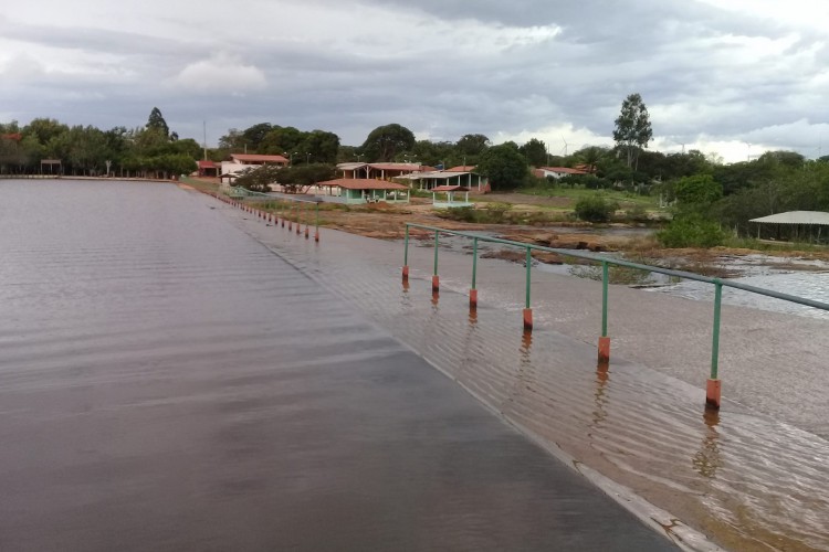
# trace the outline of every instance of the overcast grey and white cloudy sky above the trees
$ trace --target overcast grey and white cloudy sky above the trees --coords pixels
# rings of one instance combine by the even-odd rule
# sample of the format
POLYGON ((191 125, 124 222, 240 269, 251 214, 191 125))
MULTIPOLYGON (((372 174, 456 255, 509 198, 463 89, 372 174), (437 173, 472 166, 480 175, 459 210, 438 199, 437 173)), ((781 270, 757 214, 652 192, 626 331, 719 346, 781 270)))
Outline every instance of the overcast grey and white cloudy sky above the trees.
POLYGON ((827 0, 29 0, 0 12, 0 121, 213 146, 256 123, 361 144, 610 145, 630 93, 652 149, 829 153, 827 0), (826 144, 823 144, 826 141, 826 144))

